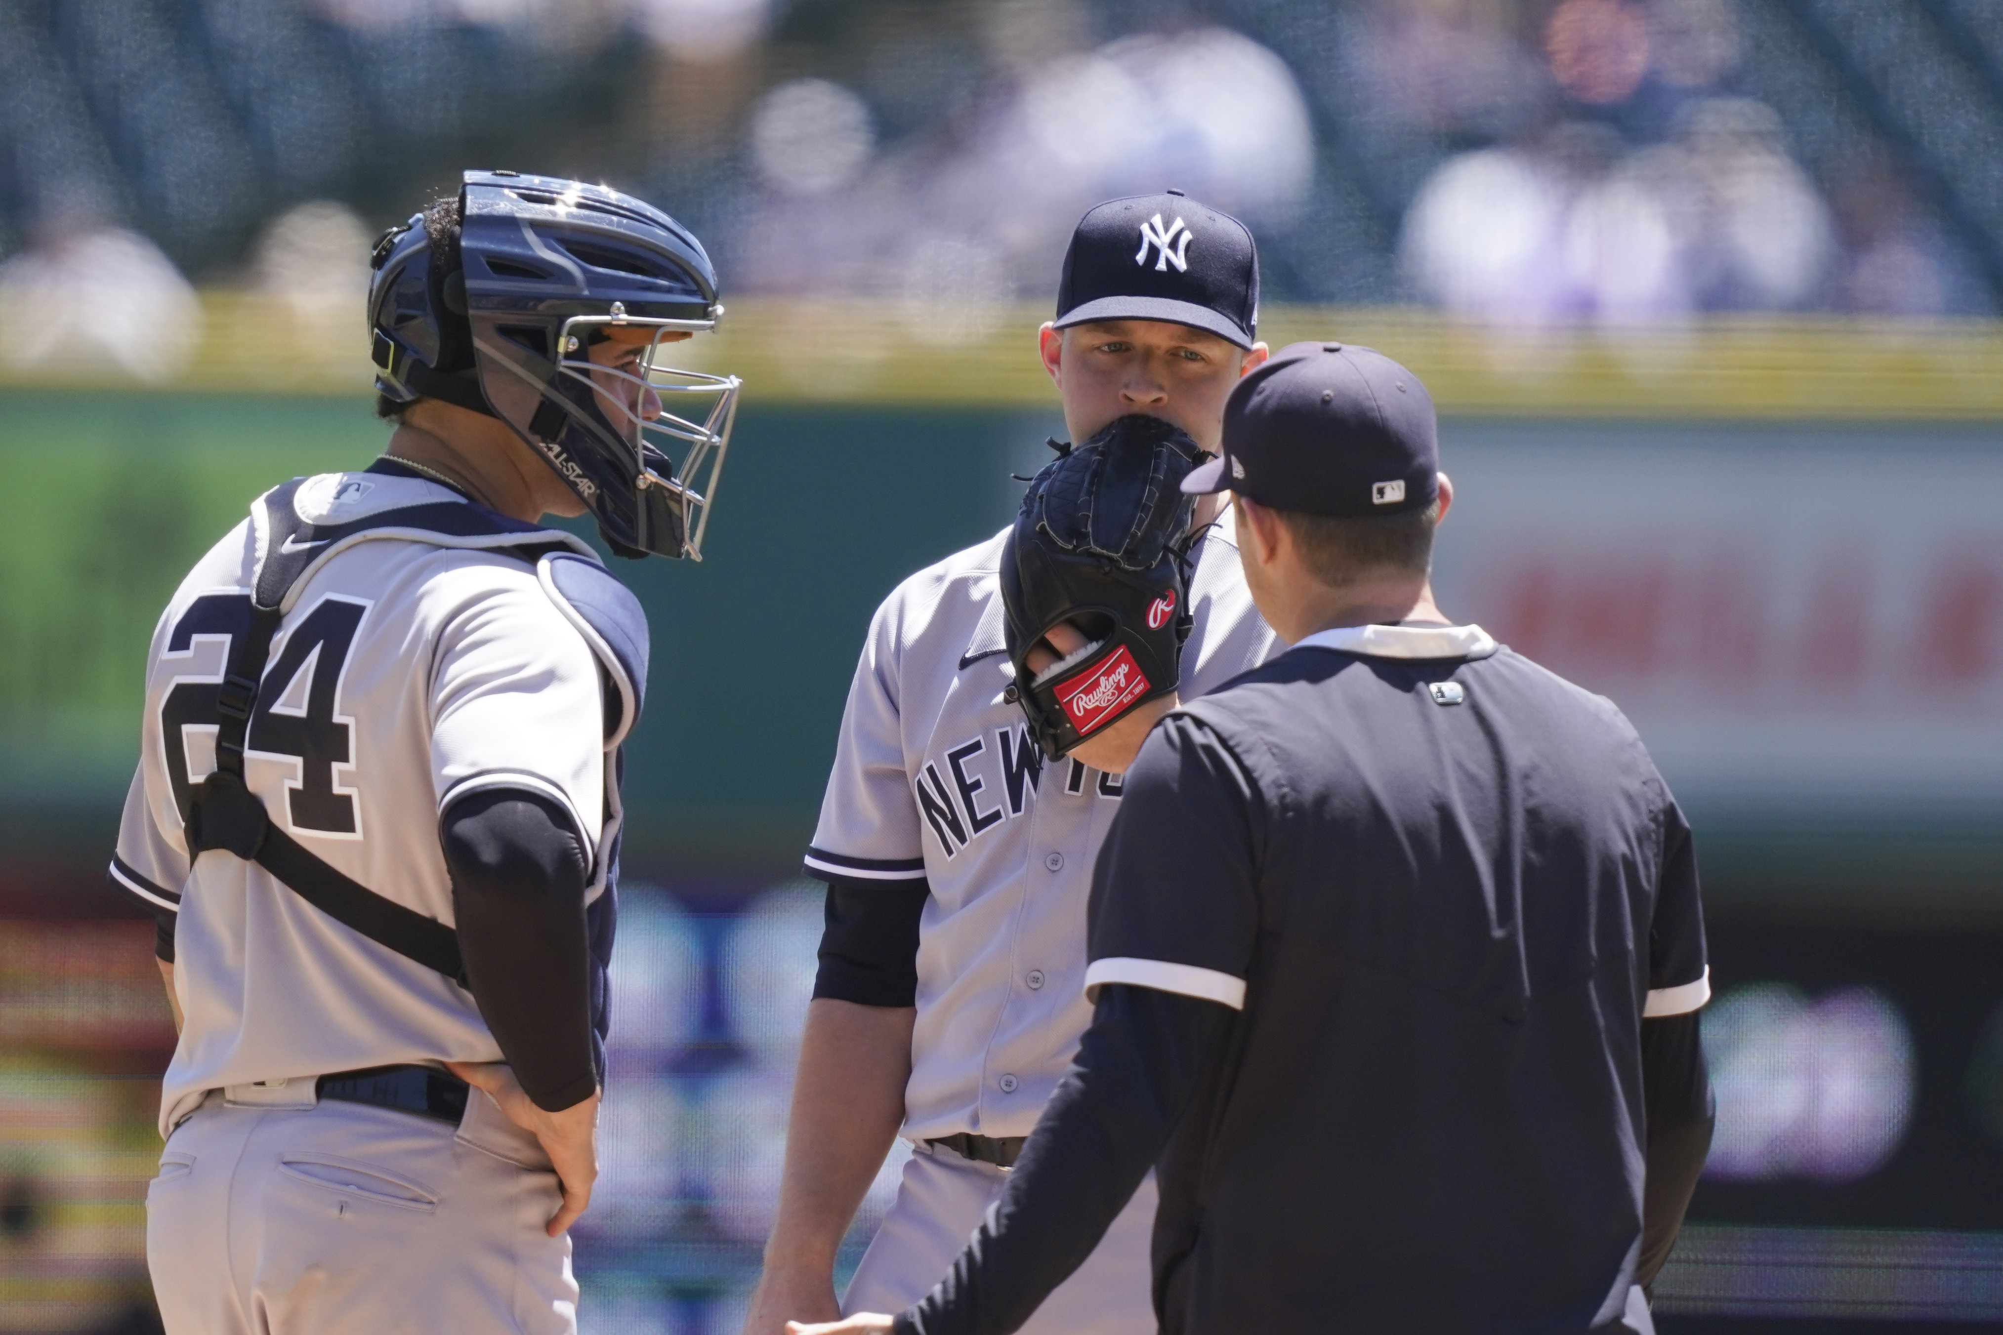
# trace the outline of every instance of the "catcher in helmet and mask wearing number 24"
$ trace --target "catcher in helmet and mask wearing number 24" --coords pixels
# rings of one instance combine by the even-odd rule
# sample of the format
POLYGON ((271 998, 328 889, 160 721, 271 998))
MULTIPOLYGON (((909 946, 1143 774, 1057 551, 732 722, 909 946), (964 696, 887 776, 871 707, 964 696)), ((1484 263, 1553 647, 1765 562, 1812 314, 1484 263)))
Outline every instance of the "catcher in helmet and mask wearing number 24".
POLYGON ((521 172, 373 274, 383 456, 260 496, 146 660, 110 867, 180 1025, 146 1261, 172 1335, 575 1335, 649 640, 541 520, 701 554, 737 380, 663 346, 723 306, 665 212, 521 172))

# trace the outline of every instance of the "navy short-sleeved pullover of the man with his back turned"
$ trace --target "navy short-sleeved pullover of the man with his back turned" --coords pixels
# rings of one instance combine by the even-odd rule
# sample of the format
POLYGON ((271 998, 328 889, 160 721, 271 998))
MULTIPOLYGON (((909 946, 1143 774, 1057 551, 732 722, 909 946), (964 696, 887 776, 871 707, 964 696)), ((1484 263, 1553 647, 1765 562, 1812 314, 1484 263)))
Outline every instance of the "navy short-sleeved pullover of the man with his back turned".
POLYGON ((1248 981, 1160 1165, 1168 1329, 1616 1317, 1644 993, 1705 975, 1683 815, 1612 705, 1508 648, 1320 638, 1170 717, 1128 787, 1174 801, 1104 855, 1160 891, 1094 905, 1096 961, 1248 981))

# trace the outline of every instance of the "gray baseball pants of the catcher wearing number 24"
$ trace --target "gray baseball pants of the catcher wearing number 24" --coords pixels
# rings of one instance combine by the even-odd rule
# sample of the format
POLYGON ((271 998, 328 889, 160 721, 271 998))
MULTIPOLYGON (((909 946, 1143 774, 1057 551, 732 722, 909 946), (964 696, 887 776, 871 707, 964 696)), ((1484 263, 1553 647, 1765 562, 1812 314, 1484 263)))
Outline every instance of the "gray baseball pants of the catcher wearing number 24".
POLYGON ((318 1103, 312 1081, 210 1091, 146 1189, 168 1335, 575 1335, 549 1157, 481 1091, 459 1127, 318 1103))

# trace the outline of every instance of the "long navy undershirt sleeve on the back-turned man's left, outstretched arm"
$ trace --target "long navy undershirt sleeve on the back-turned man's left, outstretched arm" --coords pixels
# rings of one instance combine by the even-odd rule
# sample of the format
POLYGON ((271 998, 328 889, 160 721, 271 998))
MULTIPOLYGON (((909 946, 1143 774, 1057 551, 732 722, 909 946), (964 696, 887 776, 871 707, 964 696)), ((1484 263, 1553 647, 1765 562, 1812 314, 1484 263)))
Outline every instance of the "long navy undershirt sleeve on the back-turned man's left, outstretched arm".
POLYGON ((1010 1335, 1084 1265, 1168 1145, 1236 1011, 1110 983, 1002 1199, 897 1335, 1010 1335))

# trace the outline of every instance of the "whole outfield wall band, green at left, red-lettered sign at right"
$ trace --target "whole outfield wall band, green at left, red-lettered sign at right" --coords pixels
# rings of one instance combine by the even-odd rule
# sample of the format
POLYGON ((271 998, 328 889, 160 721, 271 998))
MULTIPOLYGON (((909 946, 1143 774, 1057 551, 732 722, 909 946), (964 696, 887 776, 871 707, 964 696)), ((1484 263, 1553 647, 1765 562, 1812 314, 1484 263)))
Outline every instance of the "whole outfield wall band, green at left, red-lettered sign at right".
MULTIPOLYGON (((709 558, 613 562, 653 624, 635 869, 797 869, 871 610, 1008 520, 1046 404, 747 394, 709 558)), ((365 396, 0 388, 0 911, 98 881, 188 564, 385 438, 365 396)), ((1442 456, 1444 604, 1634 719, 1721 895, 2003 921, 2003 430, 1454 414, 1442 456)))

